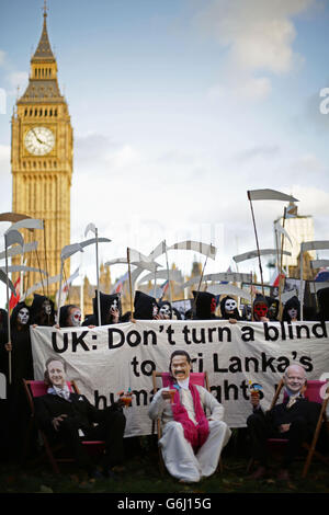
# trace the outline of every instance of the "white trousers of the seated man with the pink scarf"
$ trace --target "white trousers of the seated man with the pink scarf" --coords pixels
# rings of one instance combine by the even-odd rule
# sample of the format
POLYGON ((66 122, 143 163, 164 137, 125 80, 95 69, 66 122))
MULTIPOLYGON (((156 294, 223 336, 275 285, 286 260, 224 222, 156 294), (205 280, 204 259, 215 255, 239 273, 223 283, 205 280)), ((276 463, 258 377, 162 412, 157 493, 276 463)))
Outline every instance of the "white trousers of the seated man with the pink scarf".
POLYGON ((159 440, 167 470, 171 476, 189 482, 198 482, 215 472, 223 447, 230 437, 230 430, 223 421, 209 421, 209 434, 196 455, 184 437, 180 422, 168 422, 159 440))

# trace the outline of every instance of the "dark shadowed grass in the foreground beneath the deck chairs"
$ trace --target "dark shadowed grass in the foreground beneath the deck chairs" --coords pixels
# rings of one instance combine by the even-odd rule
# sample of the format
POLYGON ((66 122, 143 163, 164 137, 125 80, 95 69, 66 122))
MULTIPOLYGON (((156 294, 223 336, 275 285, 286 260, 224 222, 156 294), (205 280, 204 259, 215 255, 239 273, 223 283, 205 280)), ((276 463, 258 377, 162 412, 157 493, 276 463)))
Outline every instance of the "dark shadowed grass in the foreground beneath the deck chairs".
POLYGON ((218 471, 197 484, 181 484, 167 472, 161 476, 157 442, 154 437, 126 442, 125 470, 113 479, 86 481, 73 464, 63 464, 55 474, 47 461, 24 465, 13 460, 0 462, 0 493, 116 493, 116 494, 326 494, 329 493, 329 466, 314 459, 306 479, 300 478, 302 461, 294 465, 291 481, 276 480, 276 466, 266 479, 254 481, 247 473, 248 443, 237 438, 223 453, 223 472, 218 471))

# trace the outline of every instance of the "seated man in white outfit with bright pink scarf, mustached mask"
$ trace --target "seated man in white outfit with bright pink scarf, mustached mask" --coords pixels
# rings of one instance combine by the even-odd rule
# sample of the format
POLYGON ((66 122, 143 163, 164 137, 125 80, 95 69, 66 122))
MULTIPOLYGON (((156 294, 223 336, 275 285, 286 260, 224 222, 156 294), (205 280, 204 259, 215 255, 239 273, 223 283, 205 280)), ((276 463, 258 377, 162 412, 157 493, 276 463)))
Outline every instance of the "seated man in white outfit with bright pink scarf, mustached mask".
POLYGON ((201 386, 190 381, 191 358, 175 351, 170 358, 170 387, 161 388, 149 407, 152 420, 161 417, 163 435, 159 440, 168 471, 181 482, 198 482, 215 472, 230 430, 223 422, 224 408, 201 386), (170 403, 170 389, 175 389, 170 403), (204 408, 211 411, 206 417, 204 408))

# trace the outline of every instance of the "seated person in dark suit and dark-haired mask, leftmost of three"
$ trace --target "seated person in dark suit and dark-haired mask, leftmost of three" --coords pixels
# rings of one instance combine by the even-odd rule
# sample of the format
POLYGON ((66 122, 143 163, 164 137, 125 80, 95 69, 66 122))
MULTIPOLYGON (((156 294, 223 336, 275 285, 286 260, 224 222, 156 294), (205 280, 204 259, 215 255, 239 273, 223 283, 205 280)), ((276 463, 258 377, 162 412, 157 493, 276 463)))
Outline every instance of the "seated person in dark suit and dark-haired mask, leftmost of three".
POLYGON ((52 440, 65 443, 78 466, 90 477, 99 473, 81 440, 104 440, 105 453, 100 465, 103 473, 113 477, 112 468, 121 466, 124 458, 126 420, 121 401, 98 410, 84 396, 70 392, 66 382, 66 364, 57 356, 46 362, 45 381, 49 385, 47 393, 34 399, 39 427, 52 440))

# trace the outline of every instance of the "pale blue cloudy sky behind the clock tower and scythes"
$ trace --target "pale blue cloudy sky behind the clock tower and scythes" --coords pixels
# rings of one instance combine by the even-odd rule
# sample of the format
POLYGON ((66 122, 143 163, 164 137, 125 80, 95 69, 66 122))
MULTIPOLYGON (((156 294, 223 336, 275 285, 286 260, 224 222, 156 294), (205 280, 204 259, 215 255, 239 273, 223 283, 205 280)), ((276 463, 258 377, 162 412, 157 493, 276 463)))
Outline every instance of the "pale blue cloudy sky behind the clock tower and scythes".
MULTIPOLYGON (((247 191, 257 188, 296 197, 299 214, 314 217, 315 239, 329 240, 328 0, 47 7, 75 135, 72 243, 92 222, 112 240, 100 245, 101 262, 127 247, 148 254, 163 239, 192 239, 217 248, 205 273, 235 270, 232 256, 256 249, 247 191)), ((10 119, 27 84, 43 1, 0 0, 0 10, 4 213, 12 210, 10 119)), ((285 205, 254 203, 261 248, 273 247, 285 205)), ((169 253, 186 273, 193 259, 169 253)), ((73 256, 71 271, 77 265, 94 281, 93 250, 73 256)), ((239 271, 252 268, 256 261, 239 271)), ((111 268, 113 279, 121 273, 111 268)))

